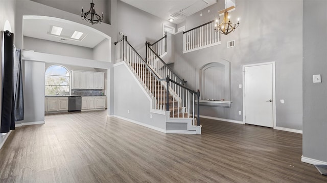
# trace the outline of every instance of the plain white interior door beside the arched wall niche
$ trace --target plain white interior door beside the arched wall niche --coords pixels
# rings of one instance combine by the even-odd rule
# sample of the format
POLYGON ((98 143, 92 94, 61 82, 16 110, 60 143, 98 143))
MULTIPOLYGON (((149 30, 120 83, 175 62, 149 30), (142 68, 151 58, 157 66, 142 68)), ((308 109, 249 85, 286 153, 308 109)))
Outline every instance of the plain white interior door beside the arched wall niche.
POLYGON ((273 127, 274 64, 243 66, 245 124, 273 127))

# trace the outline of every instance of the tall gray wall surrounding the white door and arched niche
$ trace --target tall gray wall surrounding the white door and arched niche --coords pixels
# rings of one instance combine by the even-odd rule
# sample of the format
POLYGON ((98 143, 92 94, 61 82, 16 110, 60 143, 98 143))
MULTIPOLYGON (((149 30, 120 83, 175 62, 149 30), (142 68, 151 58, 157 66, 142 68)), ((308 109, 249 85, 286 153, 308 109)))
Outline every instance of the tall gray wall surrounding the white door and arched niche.
MULTIPOLYGON (((188 17, 184 22, 186 29, 213 20, 216 12, 223 9, 218 5, 188 17), (214 13, 207 13, 208 10, 214 13)), ((279 1, 240 0, 230 16, 232 21, 240 17, 240 26, 235 32, 222 35, 220 45, 183 54, 182 33, 175 36, 176 59, 173 68, 188 81, 191 88, 200 88, 199 69, 203 65, 219 59, 230 62, 232 107, 201 106, 201 115, 242 121, 243 116, 238 115, 238 111, 243 111, 242 88, 239 88, 239 84, 242 84, 242 66, 275 62, 276 126, 302 130, 302 1, 283 1, 281 6, 279 1), (289 28, 285 28, 285 25, 289 28), (236 41, 236 46, 227 49, 226 43, 231 40, 236 41), (285 104, 279 102, 281 99, 285 100, 285 104)))

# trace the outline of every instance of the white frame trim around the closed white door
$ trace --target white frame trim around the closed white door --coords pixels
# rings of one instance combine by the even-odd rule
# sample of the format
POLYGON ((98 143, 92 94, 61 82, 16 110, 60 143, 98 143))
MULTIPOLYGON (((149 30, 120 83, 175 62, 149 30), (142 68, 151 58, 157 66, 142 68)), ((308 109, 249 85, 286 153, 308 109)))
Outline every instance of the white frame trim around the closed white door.
POLYGON ((276 80, 275 80, 275 62, 266 62, 266 63, 258 63, 258 64, 249 64, 243 65, 242 67, 242 77, 243 77, 243 124, 245 124, 245 67, 252 66, 262 66, 262 65, 272 65, 272 118, 273 118, 273 129, 276 129, 276 80))

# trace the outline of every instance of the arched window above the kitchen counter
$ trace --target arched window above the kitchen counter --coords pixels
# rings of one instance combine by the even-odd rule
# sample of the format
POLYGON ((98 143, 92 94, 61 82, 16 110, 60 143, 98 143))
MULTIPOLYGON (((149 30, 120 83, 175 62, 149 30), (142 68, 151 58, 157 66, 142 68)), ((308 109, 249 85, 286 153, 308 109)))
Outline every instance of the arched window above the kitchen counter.
POLYGON ((45 71, 45 95, 65 96, 70 92, 69 71, 59 65, 50 66, 45 71))

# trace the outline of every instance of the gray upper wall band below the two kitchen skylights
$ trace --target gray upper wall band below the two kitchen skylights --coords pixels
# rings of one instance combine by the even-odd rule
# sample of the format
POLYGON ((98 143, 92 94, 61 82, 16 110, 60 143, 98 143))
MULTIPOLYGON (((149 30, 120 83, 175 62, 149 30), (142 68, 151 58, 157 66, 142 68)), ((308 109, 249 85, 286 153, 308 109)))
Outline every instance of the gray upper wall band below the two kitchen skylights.
MULTIPOLYGON (((77 58, 93 59, 93 49, 24 36, 24 49, 77 58)), ((102 60, 101 60, 102 61, 102 60)))

